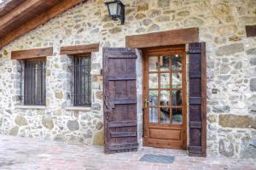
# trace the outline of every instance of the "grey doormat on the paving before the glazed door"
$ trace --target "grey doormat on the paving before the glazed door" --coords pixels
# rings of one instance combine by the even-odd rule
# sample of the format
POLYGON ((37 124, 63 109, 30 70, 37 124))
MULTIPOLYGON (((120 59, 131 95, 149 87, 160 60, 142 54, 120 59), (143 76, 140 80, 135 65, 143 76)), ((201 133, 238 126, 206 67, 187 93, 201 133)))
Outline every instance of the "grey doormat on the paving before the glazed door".
POLYGON ((157 156, 157 155, 151 155, 151 154, 146 154, 144 155, 140 161, 148 161, 152 163, 173 163, 174 161, 174 156, 157 156))

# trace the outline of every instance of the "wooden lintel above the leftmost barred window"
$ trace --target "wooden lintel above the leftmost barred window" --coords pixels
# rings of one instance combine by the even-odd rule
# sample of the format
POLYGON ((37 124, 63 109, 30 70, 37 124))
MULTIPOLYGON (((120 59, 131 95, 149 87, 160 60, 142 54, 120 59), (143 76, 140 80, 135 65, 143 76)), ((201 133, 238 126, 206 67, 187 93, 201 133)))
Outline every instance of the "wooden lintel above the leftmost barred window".
POLYGON ((53 48, 34 48, 20 51, 12 51, 11 59, 40 59, 53 55, 53 48))

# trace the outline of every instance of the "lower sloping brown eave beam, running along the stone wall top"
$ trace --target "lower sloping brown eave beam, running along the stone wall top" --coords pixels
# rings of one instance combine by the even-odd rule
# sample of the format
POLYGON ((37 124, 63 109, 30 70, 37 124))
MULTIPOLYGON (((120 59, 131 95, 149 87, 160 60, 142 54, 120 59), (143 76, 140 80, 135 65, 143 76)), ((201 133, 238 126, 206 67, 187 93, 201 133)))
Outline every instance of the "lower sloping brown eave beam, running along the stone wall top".
POLYGON ((84 2, 86 2, 86 0, 61 1, 61 3, 56 4, 53 8, 50 8, 44 14, 41 14, 38 17, 34 18, 33 20, 26 22, 24 25, 20 26, 20 28, 3 37, 0 41, 0 48, 3 48, 3 46, 9 44, 9 42, 13 42, 17 38, 25 35, 28 31, 32 31, 36 27, 53 19, 56 15, 62 14, 63 12, 67 11, 67 9, 73 8, 75 5, 84 2))

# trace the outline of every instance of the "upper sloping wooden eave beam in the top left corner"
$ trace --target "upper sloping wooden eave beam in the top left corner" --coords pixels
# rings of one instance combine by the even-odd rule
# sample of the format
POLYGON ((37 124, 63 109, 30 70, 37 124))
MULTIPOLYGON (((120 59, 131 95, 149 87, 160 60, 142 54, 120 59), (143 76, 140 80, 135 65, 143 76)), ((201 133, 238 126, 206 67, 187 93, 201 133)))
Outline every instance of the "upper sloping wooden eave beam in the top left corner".
POLYGON ((43 3, 42 0, 30 0, 24 3, 21 3, 14 10, 10 11, 8 14, 5 14, 3 15, 3 17, 0 18, 1 20, 0 30, 3 30, 3 28, 5 28, 6 26, 9 26, 9 24, 12 23, 14 20, 26 14, 29 11, 29 9, 36 8, 42 3, 43 3))

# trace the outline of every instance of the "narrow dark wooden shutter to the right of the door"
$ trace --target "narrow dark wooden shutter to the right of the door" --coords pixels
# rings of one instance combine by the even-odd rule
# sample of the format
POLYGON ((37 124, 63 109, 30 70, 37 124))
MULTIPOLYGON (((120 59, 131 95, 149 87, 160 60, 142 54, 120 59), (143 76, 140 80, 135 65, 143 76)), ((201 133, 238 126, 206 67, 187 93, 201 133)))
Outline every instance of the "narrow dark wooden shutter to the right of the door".
POLYGON ((206 43, 189 44, 189 156, 206 156, 207 149, 206 43))

